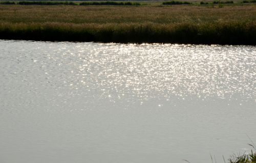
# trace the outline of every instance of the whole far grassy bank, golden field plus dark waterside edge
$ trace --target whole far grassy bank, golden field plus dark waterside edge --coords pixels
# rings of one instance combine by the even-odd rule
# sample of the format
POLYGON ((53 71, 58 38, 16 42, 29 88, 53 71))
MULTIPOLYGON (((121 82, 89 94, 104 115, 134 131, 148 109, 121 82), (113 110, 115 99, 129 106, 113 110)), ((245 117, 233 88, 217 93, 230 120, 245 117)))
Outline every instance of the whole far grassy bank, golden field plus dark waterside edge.
POLYGON ((0 5, 0 39, 256 45, 256 6, 0 5))

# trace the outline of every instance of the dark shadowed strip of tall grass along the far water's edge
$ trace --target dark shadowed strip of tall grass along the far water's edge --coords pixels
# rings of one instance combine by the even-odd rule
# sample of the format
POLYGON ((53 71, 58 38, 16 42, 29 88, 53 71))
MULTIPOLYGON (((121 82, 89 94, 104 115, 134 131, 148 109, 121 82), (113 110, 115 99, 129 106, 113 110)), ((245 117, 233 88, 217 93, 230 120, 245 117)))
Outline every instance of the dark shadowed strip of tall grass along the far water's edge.
POLYGON ((256 22, 201 25, 2 23, 0 39, 256 45, 256 22))

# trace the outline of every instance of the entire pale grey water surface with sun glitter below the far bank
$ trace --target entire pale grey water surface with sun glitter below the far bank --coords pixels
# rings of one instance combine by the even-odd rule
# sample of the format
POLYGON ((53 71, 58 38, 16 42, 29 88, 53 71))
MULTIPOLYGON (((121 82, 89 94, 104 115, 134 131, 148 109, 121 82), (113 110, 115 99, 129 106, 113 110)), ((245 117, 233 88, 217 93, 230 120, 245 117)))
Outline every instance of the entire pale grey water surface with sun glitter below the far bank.
POLYGON ((256 47, 0 40, 0 161, 223 162, 256 143, 256 47))

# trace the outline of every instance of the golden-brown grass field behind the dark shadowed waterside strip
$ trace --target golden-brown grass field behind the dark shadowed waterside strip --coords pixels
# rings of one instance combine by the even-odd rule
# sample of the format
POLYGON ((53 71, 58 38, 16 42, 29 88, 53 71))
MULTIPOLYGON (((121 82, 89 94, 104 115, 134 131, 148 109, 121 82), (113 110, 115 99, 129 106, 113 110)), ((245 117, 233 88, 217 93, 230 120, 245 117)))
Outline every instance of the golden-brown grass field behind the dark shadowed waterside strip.
POLYGON ((256 21, 256 6, 19 6, 0 5, 0 22, 217 23, 256 21))

